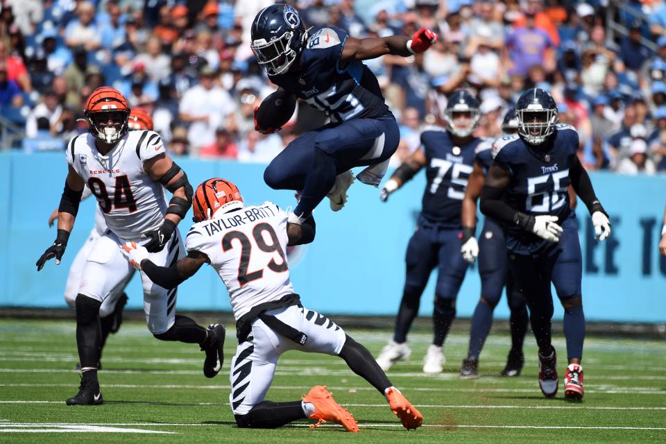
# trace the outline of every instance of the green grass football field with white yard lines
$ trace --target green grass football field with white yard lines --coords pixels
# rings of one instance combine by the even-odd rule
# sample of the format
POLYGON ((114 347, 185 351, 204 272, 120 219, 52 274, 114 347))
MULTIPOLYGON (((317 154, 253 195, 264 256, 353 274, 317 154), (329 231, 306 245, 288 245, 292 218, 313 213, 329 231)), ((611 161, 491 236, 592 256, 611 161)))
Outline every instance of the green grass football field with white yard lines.
MULTIPOLYGON (((343 325, 344 326, 344 325, 343 325)), ((458 369, 466 335, 447 339, 445 373, 420 372, 430 335, 411 335, 412 360, 389 373, 395 386, 423 414, 424 427, 407 432, 384 398, 335 357, 289 352, 282 357, 268 399, 298 400, 325 384, 359 421, 361 432, 338 425, 309 429, 307 422, 276 430, 239 429, 229 396, 233 327, 222 372, 201 373, 196 346, 160 342, 138 322, 112 335, 100 382, 105 404, 67 407, 76 393, 78 361, 72 321, 0 320, 0 443, 633 443, 666 442, 666 343, 646 339, 590 337, 583 360, 586 395, 572 404, 563 385, 553 400, 541 395, 536 348, 528 337, 527 365, 518 378, 497 377, 507 334, 491 334, 481 355, 481 377, 463 380, 458 369), (71 435, 75 433, 75 435, 71 435), (75 441, 76 440, 76 441, 75 441), (138 441, 140 440, 140 441, 138 441)), ((384 332, 348 330, 377 354, 384 332)), ((554 344, 561 357, 561 335, 554 344)))

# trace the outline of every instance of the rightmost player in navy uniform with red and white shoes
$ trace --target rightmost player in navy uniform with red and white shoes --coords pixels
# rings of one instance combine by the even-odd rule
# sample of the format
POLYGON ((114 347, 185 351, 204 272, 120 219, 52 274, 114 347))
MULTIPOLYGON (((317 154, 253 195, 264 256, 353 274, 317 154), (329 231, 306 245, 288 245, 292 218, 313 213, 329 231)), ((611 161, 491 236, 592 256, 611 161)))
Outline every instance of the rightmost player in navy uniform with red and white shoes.
POLYGON ((509 267, 524 291, 539 348, 539 386, 548 398, 557 393, 555 349, 551 343, 551 282, 564 307, 569 366, 565 398, 583 398, 585 316, 581 246, 576 216, 570 209, 571 184, 592 215, 600 241, 610 234, 608 215, 577 157, 578 133, 557 123, 557 105, 543 89, 527 90, 516 105, 518 135, 493 146, 493 164, 481 191, 481 212, 506 224, 509 267))

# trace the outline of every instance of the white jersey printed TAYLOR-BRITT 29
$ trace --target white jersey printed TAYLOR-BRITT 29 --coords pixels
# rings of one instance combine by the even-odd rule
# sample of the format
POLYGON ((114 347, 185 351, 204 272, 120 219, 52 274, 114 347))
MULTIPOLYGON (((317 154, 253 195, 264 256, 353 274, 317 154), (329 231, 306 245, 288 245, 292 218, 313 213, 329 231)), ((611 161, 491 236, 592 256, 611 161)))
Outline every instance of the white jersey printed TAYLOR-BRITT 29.
POLYGON ((264 202, 195 223, 185 248, 210 258, 238 320, 255 305, 293 293, 287 241, 287 213, 264 202))

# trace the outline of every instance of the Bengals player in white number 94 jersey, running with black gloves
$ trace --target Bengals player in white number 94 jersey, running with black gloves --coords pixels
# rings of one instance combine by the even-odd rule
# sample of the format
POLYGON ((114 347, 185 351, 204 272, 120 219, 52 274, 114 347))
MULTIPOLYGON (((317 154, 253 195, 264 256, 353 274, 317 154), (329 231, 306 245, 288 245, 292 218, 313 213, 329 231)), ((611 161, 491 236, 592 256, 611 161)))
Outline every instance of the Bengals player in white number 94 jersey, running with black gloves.
MULTIPOLYGON (((185 255, 176 224, 191 206, 192 187, 185 172, 165 153, 153 131, 128 131, 130 108, 123 95, 110 87, 95 89, 85 105, 89 133, 67 145, 69 173, 58 209, 58 235, 37 260, 37 271, 47 260, 60 264, 69 233, 87 185, 97 198, 108 230, 87 256, 76 296, 76 344, 83 376, 72 404, 99 404, 100 306, 132 273, 121 253, 127 241, 144 241, 156 264, 173 264, 185 255), (167 188, 173 197, 167 202, 167 188)), ((198 343, 206 352, 203 370, 216 375, 223 359, 224 327, 201 327, 176 316, 176 288, 167 290, 142 273, 146 323, 162 341, 198 343)))

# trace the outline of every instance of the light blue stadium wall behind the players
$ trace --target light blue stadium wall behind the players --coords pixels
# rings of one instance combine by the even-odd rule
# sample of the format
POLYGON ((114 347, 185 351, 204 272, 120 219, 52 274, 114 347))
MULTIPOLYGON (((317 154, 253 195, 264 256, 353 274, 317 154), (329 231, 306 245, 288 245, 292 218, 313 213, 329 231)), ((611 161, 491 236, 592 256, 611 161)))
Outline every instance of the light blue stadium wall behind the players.
MULTIPOLYGON (((247 203, 273 200, 293 205, 293 192, 264 185, 262 164, 178 159, 193 185, 219 176, 239 185, 247 203)), ((65 307, 62 292, 71 261, 93 225, 93 200, 81 205, 74 233, 60 266, 53 261, 37 273, 35 261, 55 238, 47 226, 58 205, 67 173, 65 156, 51 153, 0 154, 0 307, 65 307)), ((660 323, 666 320, 666 260, 658 254, 666 176, 653 178, 594 173, 592 182, 610 213, 613 235, 598 244, 590 218, 579 207, 583 247, 583 299, 591 321, 660 323)), ((296 291, 307 306, 328 314, 395 314, 404 282, 404 251, 420 208, 420 174, 388 203, 376 189, 355 183, 350 200, 333 213, 325 201, 316 210, 314 244, 289 253, 296 291)), ((189 228, 188 218, 180 225, 189 228)), ((432 312, 434 275, 422 298, 420 314, 432 312)), ((477 268, 470 268, 458 298, 459 316, 469 317, 479 298, 477 268)), ((129 307, 143 307, 137 276, 127 290, 129 307)), ((556 317, 562 310, 556 302, 556 317)), ((216 273, 203 268, 182 284, 179 309, 230 311, 216 273)), ((500 302, 497 316, 506 318, 500 302)))

